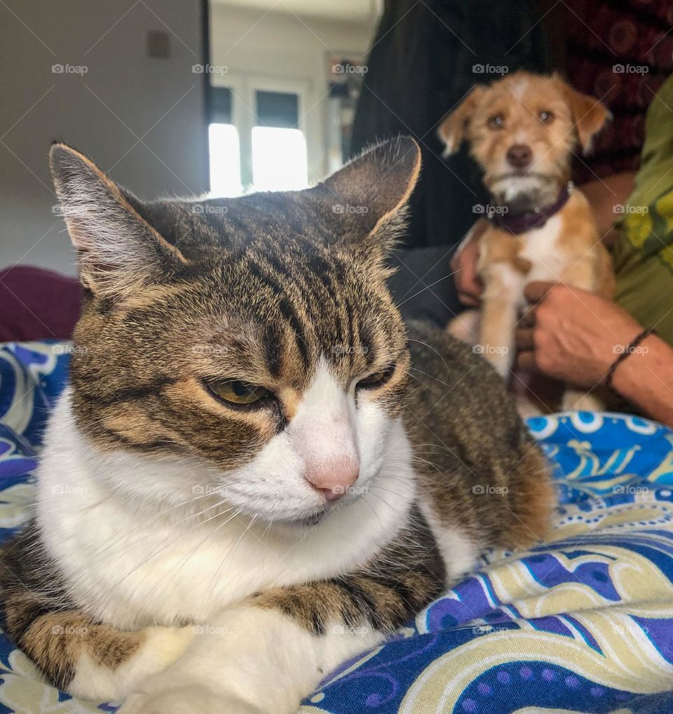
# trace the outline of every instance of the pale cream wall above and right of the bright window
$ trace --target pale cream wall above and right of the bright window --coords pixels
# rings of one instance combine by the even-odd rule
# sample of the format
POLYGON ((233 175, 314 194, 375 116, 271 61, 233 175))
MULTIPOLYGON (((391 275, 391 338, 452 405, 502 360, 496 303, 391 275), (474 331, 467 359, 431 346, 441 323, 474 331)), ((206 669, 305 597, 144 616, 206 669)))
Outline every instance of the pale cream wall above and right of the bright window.
POLYGON ((211 62, 227 68, 226 74, 214 76, 213 81, 232 86, 235 95, 241 79, 248 77, 253 81, 271 77, 290 86, 299 83, 308 88, 303 120, 311 183, 328 172, 326 58, 328 54, 365 56, 375 22, 374 13, 365 21, 344 21, 220 2, 211 5, 211 62))

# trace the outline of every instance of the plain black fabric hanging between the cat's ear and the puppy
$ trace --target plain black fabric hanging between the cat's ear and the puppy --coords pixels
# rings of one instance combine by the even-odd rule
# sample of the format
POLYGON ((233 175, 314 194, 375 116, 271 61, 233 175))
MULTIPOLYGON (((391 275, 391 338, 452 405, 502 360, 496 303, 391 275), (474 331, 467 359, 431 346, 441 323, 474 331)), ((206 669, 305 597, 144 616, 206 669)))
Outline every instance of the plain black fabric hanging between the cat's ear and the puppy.
POLYGON ((422 151, 422 173, 410 203, 408 233, 393 263, 393 293, 408 315, 445 323, 460 311, 449 257, 487 202, 465 147, 442 158, 443 117, 474 84, 497 79, 475 65, 549 71, 550 52, 529 0, 386 0, 368 56, 351 148, 410 134, 422 151), (424 248, 422 252, 416 252, 424 248), (439 273, 444 271, 446 279, 439 273), (425 276, 419 281, 420 276, 425 276), (438 281, 435 286, 430 286, 438 281), (425 288, 425 290, 422 290, 425 288))

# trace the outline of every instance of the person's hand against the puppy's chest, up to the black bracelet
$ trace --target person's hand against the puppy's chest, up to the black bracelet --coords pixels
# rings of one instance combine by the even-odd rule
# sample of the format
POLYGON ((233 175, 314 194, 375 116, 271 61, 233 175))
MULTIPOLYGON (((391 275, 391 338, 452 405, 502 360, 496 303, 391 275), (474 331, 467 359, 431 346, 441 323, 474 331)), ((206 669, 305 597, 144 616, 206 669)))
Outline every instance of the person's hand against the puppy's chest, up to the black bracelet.
POLYGON ((578 387, 603 381, 642 331, 622 308, 594 293, 535 282, 524 294, 532 306, 517 330, 517 364, 578 387))

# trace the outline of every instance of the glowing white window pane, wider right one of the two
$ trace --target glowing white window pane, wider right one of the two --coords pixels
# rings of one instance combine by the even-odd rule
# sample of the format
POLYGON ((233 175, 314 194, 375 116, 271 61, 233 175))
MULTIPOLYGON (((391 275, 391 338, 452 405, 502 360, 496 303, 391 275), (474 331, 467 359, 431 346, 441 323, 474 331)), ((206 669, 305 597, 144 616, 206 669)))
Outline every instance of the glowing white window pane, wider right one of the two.
POLYGON ((299 129, 253 128, 253 191, 295 191, 308 186, 306 139, 299 129))

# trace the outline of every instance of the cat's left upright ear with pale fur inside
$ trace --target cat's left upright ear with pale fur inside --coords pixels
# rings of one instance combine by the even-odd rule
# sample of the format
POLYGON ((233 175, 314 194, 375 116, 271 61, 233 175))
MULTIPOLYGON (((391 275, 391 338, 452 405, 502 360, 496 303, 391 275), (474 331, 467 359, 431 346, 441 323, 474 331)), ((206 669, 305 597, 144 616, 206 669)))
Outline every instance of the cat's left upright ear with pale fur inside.
POLYGON ((123 299, 166 281, 186 258, 136 211, 93 161, 66 144, 49 151, 56 196, 79 253, 82 285, 100 298, 123 299))

